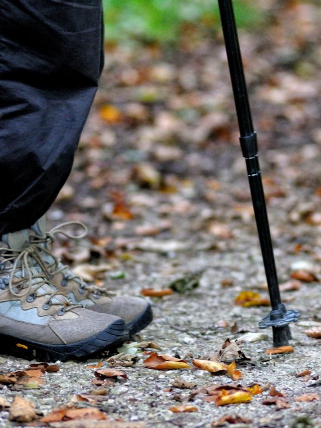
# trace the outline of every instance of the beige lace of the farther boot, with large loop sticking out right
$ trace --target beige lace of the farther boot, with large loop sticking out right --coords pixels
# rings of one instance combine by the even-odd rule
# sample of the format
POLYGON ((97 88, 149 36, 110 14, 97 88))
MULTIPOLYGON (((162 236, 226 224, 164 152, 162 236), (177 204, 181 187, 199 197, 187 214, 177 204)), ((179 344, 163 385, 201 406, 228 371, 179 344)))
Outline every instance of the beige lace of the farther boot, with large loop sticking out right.
POLYGON ((67 265, 63 265, 59 257, 55 256, 55 254, 51 251, 51 245, 56 241, 57 235, 61 234, 69 239, 79 240, 84 238, 87 235, 87 232, 87 227, 81 222, 66 222, 56 226, 49 232, 46 232, 44 236, 39 236, 34 233, 31 234, 30 237, 32 246, 35 246, 38 251, 46 253, 53 260, 51 263, 44 262, 41 256, 37 255, 37 263, 40 265, 41 269, 46 273, 49 279, 61 272, 63 274, 63 279, 61 281, 61 285, 63 287, 68 284, 69 280, 73 280, 79 284, 79 294, 84 294, 87 291, 88 293, 91 293, 95 299, 99 299, 101 295, 112 297, 115 295, 114 292, 102 289, 93 284, 85 283, 83 279, 80 276, 75 275, 67 265), (68 226, 80 226, 83 229, 83 233, 80 235, 72 235, 63 230, 63 228, 68 226))

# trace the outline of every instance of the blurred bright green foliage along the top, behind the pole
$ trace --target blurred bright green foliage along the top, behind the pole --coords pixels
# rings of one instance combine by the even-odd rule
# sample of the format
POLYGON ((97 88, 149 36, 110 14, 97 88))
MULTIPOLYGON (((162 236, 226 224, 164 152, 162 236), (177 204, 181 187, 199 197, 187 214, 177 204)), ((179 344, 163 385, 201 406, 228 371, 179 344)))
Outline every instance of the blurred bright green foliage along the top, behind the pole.
MULTIPOLYGON (((262 13, 255 9, 254 3, 234 0, 240 27, 255 26, 262 21, 262 13)), ((175 42, 186 23, 211 31, 220 23, 217 0, 103 0, 103 5, 108 41, 175 42)))

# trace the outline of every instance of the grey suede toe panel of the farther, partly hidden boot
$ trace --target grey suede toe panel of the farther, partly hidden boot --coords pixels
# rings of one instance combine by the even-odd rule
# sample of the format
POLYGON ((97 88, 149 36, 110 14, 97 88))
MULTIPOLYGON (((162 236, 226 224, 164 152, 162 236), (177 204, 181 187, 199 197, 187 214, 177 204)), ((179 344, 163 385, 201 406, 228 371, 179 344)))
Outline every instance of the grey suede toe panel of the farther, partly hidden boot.
POLYGON ((148 302, 140 297, 115 296, 103 305, 90 306, 90 310, 117 315, 127 323, 137 318, 147 306, 148 302))

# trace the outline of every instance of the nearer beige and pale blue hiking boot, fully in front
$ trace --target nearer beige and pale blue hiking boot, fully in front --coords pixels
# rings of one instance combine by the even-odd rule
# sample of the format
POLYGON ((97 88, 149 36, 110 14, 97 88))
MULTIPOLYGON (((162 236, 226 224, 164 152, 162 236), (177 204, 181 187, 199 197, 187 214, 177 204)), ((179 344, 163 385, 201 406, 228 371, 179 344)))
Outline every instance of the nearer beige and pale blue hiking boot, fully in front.
POLYGON ((23 358, 84 357, 127 340, 122 319, 71 304, 35 264, 31 231, 0 241, 0 340, 2 352, 23 358))

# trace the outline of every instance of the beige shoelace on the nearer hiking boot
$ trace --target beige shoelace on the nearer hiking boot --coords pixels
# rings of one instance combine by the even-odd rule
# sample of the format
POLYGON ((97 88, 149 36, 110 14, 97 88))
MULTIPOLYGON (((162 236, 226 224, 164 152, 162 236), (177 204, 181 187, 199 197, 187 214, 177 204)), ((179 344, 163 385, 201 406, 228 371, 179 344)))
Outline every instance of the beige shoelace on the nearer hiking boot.
POLYGON ((60 316, 71 309, 81 307, 81 305, 72 304, 71 300, 50 284, 37 268, 30 266, 31 258, 35 256, 35 248, 32 245, 21 250, 0 247, 0 255, 3 257, 0 269, 9 274, 7 277, 1 277, 1 289, 5 289, 8 285, 10 292, 16 297, 24 297, 32 292, 26 299, 28 303, 33 302, 37 297, 48 296, 43 309, 48 310, 51 306, 59 306, 57 315, 60 316))

